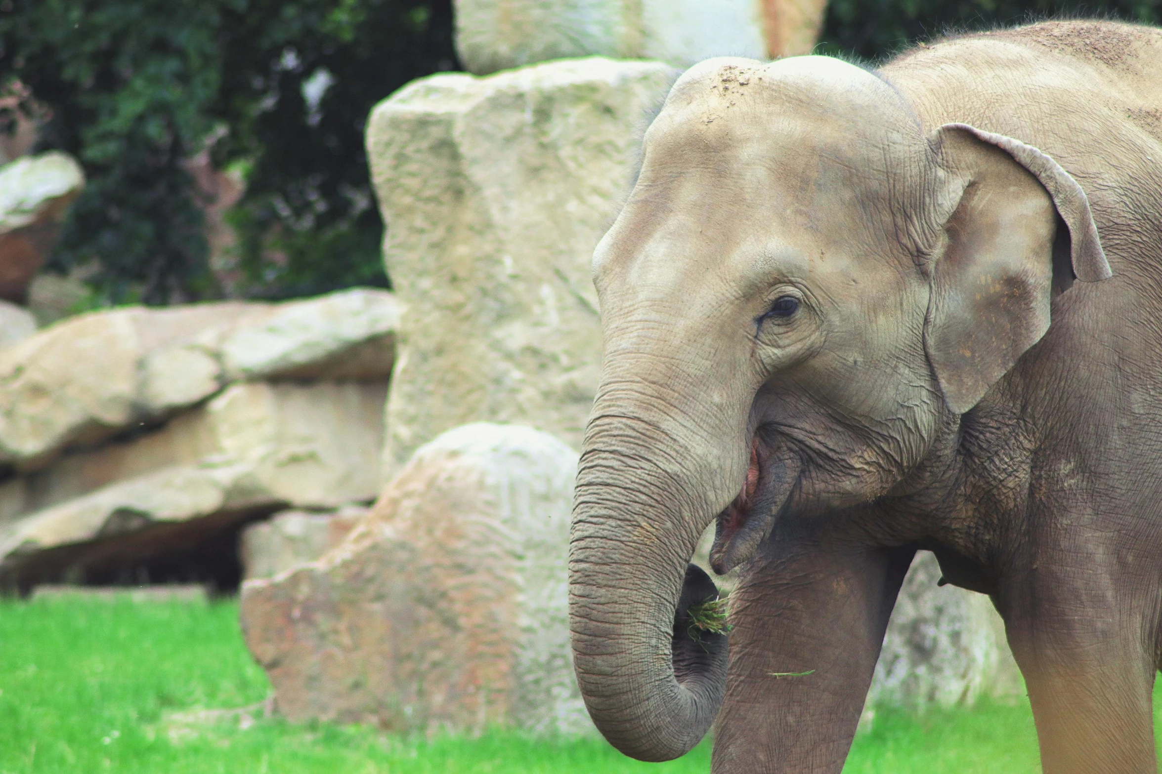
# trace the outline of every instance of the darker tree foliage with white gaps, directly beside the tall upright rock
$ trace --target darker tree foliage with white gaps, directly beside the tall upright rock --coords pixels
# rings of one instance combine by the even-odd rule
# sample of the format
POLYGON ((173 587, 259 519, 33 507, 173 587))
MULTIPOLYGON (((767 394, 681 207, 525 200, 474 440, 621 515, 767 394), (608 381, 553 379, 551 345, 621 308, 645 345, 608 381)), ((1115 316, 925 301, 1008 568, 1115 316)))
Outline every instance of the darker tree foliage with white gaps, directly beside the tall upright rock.
POLYGON ((242 268, 264 295, 385 284, 368 180, 371 108, 457 67, 451 0, 250 0, 224 17, 222 164, 249 161, 234 211, 242 268))

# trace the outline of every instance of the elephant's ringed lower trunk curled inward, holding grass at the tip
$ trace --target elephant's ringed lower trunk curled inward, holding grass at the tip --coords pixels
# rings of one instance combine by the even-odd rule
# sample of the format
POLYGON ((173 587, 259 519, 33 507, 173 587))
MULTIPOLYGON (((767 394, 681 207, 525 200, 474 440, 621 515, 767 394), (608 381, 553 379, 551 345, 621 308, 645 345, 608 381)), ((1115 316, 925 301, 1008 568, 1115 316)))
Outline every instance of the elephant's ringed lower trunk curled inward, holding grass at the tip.
MULTIPOLYGON (((745 461, 730 457, 725 443, 676 442, 634 413, 598 402, 589 422, 574 495, 569 616, 594 723, 625 754, 662 761, 702 739, 725 692, 726 637, 689 615, 717 599, 717 588, 688 562, 722 507, 713 499, 730 499, 706 482, 729 480, 723 473, 745 461)), ((726 437, 741 435, 732 429, 726 437)))

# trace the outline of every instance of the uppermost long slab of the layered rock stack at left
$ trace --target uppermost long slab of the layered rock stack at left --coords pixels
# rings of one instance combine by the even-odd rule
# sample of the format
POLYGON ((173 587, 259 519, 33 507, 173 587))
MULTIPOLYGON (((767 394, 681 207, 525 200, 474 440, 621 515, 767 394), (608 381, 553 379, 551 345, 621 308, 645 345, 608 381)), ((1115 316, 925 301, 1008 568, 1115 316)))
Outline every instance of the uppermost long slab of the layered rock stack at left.
POLYGON ((0 462, 43 468, 66 447, 156 421, 235 379, 386 381, 397 316, 392 294, 357 289, 63 320, 0 352, 0 462))

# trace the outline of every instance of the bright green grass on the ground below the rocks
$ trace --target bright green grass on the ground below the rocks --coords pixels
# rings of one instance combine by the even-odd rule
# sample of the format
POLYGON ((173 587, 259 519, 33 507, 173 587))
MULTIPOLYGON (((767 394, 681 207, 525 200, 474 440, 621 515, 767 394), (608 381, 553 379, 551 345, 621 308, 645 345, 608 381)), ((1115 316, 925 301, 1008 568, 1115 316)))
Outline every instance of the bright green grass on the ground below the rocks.
MULTIPOLYGON (((270 687, 237 605, 0 602, 0 773, 314 774, 706 772, 710 745, 639 764, 600 740, 511 733, 418 743, 359 726, 293 726, 248 712, 270 687), (208 716, 208 718, 207 718, 208 716), (243 728, 245 726, 245 728, 243 728)), ((1038 772, 1028 706, 921 718, 880 712, 846 774, 1038 772)))

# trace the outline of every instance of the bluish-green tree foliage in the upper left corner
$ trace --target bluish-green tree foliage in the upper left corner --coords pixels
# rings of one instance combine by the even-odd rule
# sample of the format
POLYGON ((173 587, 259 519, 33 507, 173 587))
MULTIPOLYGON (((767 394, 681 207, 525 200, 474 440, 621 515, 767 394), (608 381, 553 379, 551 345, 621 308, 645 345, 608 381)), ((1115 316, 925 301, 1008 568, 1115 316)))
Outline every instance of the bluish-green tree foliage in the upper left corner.
POLYGON ((211 126, 218 26, 196 0, 0 5, 0 72, 33 87, 51 115, 41 144, 77 155, 88 178, 57 260, 96 259, 113 298, 207 290, 202 214, 182 161, 211 126))

